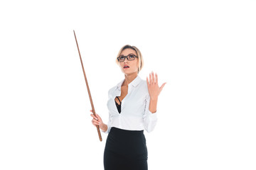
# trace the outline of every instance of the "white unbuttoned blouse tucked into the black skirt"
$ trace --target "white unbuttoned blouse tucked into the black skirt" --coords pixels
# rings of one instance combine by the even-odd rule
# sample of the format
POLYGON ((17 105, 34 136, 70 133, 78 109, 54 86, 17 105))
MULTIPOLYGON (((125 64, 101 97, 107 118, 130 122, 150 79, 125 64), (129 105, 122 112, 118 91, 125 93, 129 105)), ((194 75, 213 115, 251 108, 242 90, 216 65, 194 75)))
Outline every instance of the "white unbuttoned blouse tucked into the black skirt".
POLYGON ((124 79, 108 91, 109 121, 105 133, 109 133, 112 127, 151 132, 156 126, 157 111, 155 113, 149 111, 150 96, 146 80, 142 80, 138 75, 128 84, 128 94, 122 100, 121 112, 119 113, 114 98, 121 96, 123 82, 124 79))

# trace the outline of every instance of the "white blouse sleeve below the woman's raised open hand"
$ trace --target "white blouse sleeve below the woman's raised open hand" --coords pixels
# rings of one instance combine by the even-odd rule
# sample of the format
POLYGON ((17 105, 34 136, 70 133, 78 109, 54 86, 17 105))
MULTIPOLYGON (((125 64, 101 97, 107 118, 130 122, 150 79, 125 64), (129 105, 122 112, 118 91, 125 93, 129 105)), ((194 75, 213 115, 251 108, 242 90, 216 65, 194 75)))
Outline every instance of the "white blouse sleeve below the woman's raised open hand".
POLYGON ((157 111, 155 113, 151 113, 149 111, 149 102, 150 102, 150 96, 149 94, 146 96, 146 104, 144 109, 144 128, 147 132, 151 132, 154 130, 157 122, 157 111))

